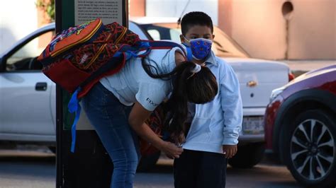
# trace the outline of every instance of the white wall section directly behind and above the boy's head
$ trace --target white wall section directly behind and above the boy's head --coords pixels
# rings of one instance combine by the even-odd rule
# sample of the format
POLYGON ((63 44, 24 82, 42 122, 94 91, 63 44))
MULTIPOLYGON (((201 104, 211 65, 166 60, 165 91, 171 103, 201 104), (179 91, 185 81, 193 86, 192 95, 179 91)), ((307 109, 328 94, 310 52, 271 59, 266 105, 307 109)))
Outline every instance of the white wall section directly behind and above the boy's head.
MULTIPOLYGON (((146 0, 146 16, 177 17, 181 16, 188 0, 146 0)), ((185 13, 203 11, 218 25, 218 0, 190 0, 185 13)))

